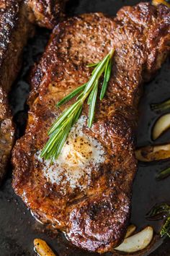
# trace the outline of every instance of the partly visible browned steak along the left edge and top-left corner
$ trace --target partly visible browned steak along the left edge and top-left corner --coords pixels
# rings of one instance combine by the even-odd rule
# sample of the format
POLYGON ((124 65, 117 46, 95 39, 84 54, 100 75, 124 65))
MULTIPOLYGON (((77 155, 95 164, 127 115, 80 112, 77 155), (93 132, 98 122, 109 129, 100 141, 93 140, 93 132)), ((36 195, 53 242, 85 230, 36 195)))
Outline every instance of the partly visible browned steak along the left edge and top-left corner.
POLYGON ((58 22, 57 17, 63 15, 61 9, 64 2, 0 0, 0 182, 14 140, 14 127, 6 93, 11 89, 21 67, 22 50, 27 39, 33 35, 34 26, 31 22, 36 21, 47 27, 54 26, 58 22))

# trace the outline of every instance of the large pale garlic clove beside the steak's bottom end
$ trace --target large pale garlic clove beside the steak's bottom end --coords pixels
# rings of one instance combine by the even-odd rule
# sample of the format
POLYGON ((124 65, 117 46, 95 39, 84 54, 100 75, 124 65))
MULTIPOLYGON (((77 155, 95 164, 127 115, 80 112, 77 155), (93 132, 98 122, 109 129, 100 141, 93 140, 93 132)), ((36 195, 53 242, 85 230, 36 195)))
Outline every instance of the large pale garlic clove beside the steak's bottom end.
POLYGON ((142 231, 126 238, 120 246, 114 248, 121 252, 138 252, 141 249, 145 249, 153 239, 153 228, 147 226, 142 231))

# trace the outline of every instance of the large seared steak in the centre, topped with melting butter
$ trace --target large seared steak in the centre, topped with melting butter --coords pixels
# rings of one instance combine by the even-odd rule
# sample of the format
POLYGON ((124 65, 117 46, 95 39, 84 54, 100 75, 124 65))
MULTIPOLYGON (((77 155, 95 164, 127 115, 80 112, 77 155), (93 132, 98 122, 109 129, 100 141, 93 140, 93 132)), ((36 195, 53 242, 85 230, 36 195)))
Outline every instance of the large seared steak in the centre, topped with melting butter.
POLYGON ((135 129, 142 84, 169 53, 170 9, 141 3, 123 7, 117 17, 82 14, 55 29, 32 71, 29 119, 14 146, 14 191, 42 223, 60 229, 77 247, 107 252, 125 236, 137 170, 135 129), (115 48, 112 75, 94 123, 88 106, 71 129, 54 162, 40 158, 48 129, 61 112, 55 104, 89 80, 86 65, 115 48))

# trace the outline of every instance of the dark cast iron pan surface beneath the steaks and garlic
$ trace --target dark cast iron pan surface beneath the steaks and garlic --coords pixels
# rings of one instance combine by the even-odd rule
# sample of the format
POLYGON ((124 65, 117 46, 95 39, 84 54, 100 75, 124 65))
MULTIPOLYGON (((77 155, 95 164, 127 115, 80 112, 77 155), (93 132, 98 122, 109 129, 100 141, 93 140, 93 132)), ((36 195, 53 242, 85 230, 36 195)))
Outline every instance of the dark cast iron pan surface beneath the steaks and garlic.
MULTIPOLYGON (((69 1, 67 12, 69 15, 81 14, 84 12, 104 12, 115 15, 117 10, 123 5, 137 4, 135 0, 80 0, 69 1)), ((27 106, 25 101, 30 91, 27 77, 30 67, 38 61, 44 51, 50 33, 44 29, 37 29, 35 38, 32 38, 24 49, 24 61, 22 71, 18 80, 14 83, 9 101, 12 105, 14 121, 17 124, 17 136, 24 132, 24 124, 27 119, 27 106)), ((143 98, 140 101, 140 121, 138 128, 138 146, 151 143, 151 127, 153 121, 158 118, 150 109, 150 103, 166 100, 170 97, 170 76, 169 60, 158 72, 156 78, 145 85, 143 98)), ((170 132, 161 137, 158 142, 170 141, 170 132)), ((139 163, 138 174, 133 185, 133 205, 131 223, 142 229, 146 225, 152 225, 158 233, 161 222, 147 221, 145 216, 148 210, 158 202, 169 202, 169 181, 170 178, 161 182, 156 182, 157 171, 169 166, 170 161, 159 163, 139 163)), ((42 226, 32 218, 22 200, 14 194, 11 186, 12 166, 6 180, 0 189, 0 256, 21 256, 35 255, 33 251, 33 239, 45 239, 54 252, 58 255, 80 256, 98 255, 95 253, 84 252, 73 247, 58 231, 51 231, 48 226, 42 226)), ((107 253, 117 255, 116 253, 107 253)), ((170 240, 158 239, 148 247, 147 251, 135 255, 170 255, 170 240)))

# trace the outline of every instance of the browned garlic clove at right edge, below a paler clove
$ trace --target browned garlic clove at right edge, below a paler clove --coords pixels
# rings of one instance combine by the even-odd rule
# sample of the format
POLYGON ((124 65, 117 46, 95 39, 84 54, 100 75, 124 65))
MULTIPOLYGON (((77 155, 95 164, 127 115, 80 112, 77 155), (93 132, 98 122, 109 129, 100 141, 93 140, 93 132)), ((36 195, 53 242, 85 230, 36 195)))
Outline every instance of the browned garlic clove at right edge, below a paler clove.
POLYGON ((135 150, 138 161, 151 162, 170 158, 170 144, 146 146, 135 150))

